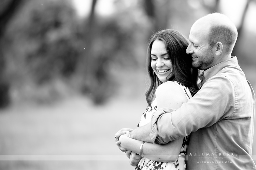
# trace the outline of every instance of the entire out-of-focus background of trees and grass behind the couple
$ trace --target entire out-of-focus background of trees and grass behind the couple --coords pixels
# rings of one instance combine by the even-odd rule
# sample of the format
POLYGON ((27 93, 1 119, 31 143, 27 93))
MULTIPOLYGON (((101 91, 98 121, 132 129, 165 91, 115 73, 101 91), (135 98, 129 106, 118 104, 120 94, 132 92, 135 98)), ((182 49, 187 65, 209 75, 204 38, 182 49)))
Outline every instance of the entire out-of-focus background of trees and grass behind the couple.
POLYGON ((256 89, 255 0, 1 0, 0 170, 134 169, 114 134, 147 106, 148 39, 211 12, 256 89))

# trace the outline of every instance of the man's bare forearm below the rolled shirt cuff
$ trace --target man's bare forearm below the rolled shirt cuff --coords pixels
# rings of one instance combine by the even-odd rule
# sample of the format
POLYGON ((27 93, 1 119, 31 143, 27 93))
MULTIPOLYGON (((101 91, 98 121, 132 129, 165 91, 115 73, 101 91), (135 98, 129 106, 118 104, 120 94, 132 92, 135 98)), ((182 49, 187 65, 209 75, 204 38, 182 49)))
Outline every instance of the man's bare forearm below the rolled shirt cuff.
POLYGON ((133 129, 133 131, 131 132, 130 138, 153 143, 150 138, 150 132, 151 132, 151 123, 148 123, 144 126, 133 129))

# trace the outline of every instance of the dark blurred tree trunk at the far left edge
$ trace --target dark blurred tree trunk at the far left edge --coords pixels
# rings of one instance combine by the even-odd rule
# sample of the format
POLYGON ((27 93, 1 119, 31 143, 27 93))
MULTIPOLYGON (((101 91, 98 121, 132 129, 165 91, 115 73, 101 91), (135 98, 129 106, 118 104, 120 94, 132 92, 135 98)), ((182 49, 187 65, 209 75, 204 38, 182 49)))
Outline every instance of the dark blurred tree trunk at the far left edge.
POLYGON ((5 75, 6 61, 3 52, 3 36, 5 30, 7 29, 8 23, 18 11, 23 1, 24 0, 5 0, 1 2, 2 9, 0 11, 0 108, 4 108, 10 104, 10 83, 5 75))

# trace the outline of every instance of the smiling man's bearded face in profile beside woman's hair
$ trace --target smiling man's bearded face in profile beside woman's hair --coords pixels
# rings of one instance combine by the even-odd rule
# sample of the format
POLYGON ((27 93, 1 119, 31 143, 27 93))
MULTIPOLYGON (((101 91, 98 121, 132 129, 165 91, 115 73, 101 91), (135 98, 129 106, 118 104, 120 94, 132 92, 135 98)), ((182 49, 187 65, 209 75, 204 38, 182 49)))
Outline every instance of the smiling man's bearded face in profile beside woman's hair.
POLYGON ((195 23, 191 27, 188 37, 189 45, 186 53, 192 56, 192 66, 200 70, 212 67, 215 60, 213 48, 209 46, 207 39, 208 30, 208 28, 195 23))

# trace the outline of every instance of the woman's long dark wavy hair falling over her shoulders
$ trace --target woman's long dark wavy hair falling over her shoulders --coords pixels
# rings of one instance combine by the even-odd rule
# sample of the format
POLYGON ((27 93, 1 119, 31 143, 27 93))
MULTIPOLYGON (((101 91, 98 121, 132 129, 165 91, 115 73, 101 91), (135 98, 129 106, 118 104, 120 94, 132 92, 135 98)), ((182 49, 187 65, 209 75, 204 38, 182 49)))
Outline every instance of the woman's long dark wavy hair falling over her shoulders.
POLYGON ((145 95, 148 106, 153 102, 156 88, 162 84, 151 67, 151 49, 155 40, 160 40, 165 44, 173 66, 172 72, 167 76, 167 81, 177 81, 183 84, 194 96, 198 91, 198 69, 192 67, 192 57, 186 53, 189 41, 179 31, 166 29, 152 35, 147 47, 148 87, 145 95))

